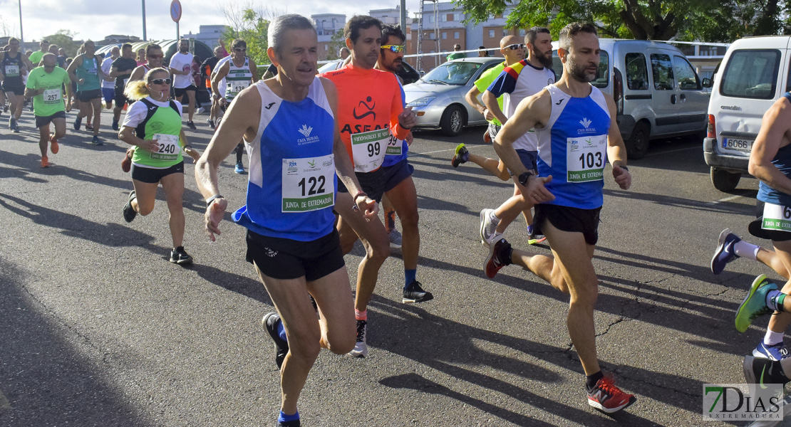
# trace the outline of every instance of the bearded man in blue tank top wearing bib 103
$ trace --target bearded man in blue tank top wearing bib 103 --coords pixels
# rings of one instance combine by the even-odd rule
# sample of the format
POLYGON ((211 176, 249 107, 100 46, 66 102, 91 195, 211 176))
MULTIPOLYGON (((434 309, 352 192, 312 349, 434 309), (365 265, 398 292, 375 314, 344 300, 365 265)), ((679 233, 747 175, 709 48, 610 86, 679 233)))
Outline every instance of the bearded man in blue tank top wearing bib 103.
POLYGON ((621 189, 629 189, 631 175, 615 122, 615 101, 589 83, 599 66, 596 28, 568 24, 559 39, 563 77, 519 103, 494 141, 494 151, 513 172, 520 192, 536 204, 534 226, 547 236, 552 256, 512 249, 500 239, 490 246, 485 269, 493 278, 503 266, 519 264, 570 294, 566 326, 587 376, 588 403, 613 413, 635 398, 616 387, 599 367, 593 319, 599 279, 592 257, 599 238, 607 157, 621 189), (524 167, 513 148, 513 142, 532 128, 539 137, 538 175, 524 167))

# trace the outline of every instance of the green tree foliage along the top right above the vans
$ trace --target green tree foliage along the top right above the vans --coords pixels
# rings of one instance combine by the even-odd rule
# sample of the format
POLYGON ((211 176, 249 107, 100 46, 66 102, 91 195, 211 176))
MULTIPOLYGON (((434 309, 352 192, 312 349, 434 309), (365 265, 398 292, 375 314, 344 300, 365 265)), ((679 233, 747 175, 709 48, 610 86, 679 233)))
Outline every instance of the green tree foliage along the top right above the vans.
POLYGON ((739 36, 778 34, 789 20, 789 0, 453 0, 468 21, 486 21, 513 5, 506 26, 547 25, 558 34, 574 21, 590 22, 611 37, 732 41, 739 36), (703 37, 701 37, 703 36, 703 37), (713 38, 710 39, 709 37, 713 38))

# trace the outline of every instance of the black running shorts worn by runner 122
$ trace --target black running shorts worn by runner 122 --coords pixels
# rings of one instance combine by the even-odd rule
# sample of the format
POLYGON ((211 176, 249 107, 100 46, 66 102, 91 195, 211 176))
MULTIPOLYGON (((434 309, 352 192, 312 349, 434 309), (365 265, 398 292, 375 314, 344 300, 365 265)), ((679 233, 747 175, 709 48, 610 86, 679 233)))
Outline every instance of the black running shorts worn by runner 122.
POLYGON ((272 238, 248 230, 247 261, 274 279, 299 279, 312 282, 343 268, 338 231, 312 242, 272 238))

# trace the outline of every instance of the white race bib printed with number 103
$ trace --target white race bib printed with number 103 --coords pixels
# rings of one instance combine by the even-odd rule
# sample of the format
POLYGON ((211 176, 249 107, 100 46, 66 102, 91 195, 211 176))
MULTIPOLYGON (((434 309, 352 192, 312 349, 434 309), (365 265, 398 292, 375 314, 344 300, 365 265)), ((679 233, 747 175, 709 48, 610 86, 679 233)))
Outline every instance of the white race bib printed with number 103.
POLYGON ((566 143, 566 182, 604 179, 607 135, 569 138, 566 143))

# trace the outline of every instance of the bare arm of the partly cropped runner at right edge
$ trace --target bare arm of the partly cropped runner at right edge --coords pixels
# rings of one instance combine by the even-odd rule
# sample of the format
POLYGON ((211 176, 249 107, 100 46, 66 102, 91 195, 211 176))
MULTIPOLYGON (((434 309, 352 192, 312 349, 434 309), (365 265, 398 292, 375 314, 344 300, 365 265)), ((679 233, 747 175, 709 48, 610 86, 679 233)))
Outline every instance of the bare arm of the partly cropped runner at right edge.
POLYGON ((755 178, 786 194, 791 194, 791 179, 772 164, 772 159, 781 147, 789 144, 789 131, 791 131, 791 103, 785 99, 785 96, 781 96, 774 101, 769 110, 766 110, 766 114, 763 114, 761 130, 752 144, 750 163, 747 166, 747 170, 755 178))

